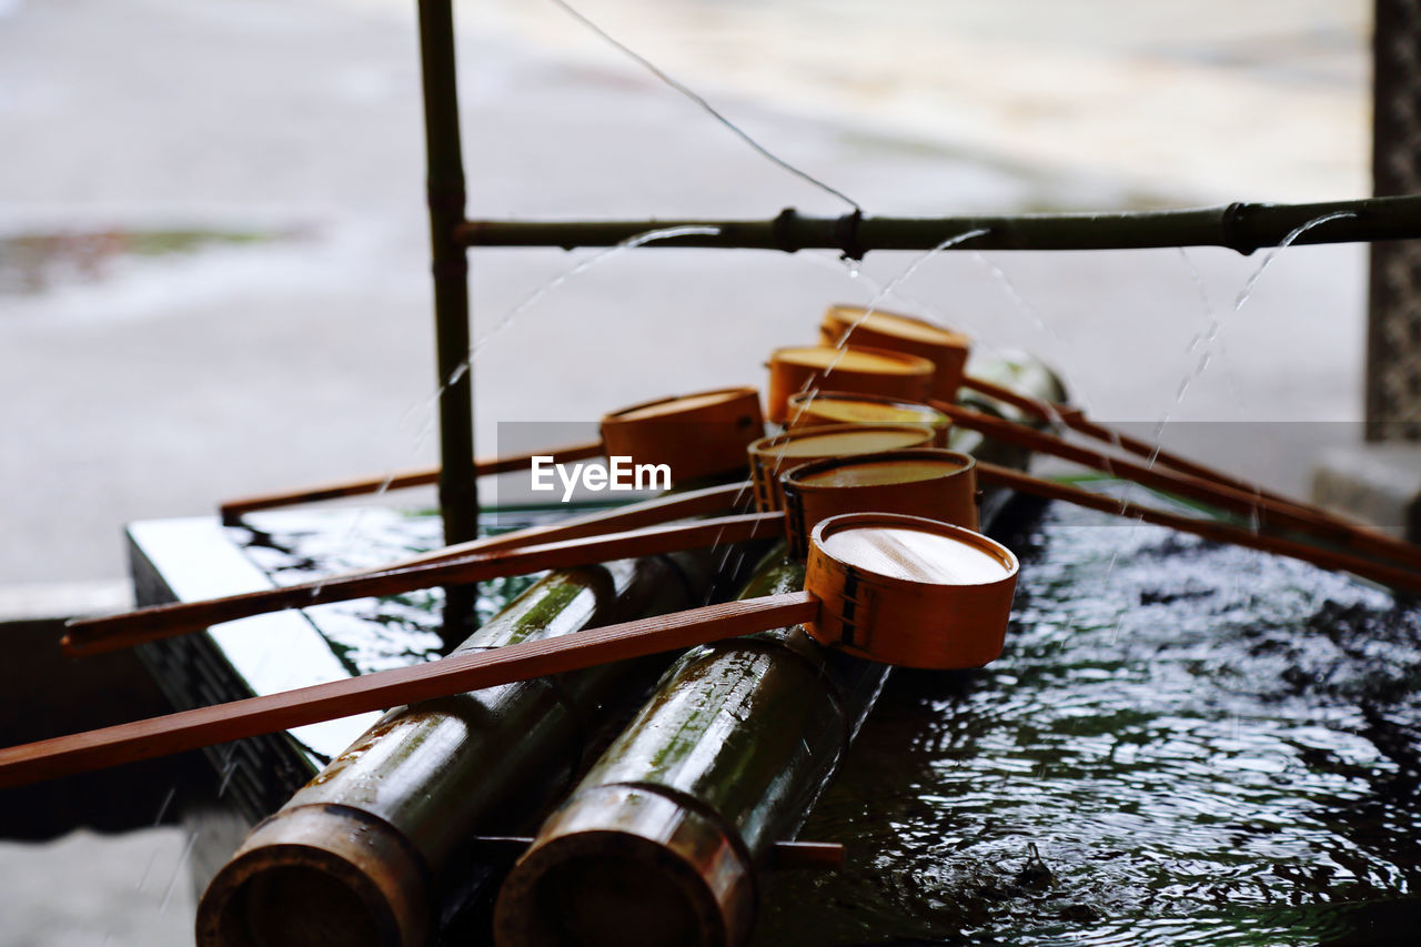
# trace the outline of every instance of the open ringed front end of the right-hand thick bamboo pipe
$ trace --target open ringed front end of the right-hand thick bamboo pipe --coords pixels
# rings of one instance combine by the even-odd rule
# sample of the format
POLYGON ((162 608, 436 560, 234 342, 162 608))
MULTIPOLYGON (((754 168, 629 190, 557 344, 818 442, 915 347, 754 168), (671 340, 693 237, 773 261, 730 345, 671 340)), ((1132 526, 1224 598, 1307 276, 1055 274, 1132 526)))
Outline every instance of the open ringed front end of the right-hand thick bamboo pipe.
POLYGON ((504 947, 729 947, 755 919, 753 866, 726 832, 639 786, 573 796, 499 892, 504 947), (573 805, 576 803, 576 805, 573 805))

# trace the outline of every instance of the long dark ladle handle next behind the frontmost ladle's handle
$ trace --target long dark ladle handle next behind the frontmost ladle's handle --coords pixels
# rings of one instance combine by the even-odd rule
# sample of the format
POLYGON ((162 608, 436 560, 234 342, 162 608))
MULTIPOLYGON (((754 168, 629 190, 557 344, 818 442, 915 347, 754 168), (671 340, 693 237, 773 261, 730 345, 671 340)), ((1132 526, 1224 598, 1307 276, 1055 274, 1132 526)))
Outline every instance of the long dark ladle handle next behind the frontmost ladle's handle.
POLYGON ((263 589, 261 592, 220 599, 178 601, 122 614, 77 619, 68 623, 68 634, 63 644, 71 656, 99 654, 200 631, 213 624, 249 619, 267 611, 306 609, 369 596, 394 596, 439 584, 465 584, 504 576, 524 576, 544 569, 593 566, 617 559, 655 556, 750 539, 773 539, 783 535, 784 516, 779 512, 720 516, 689 525, 649 526, 345 579, 304 582, 297 586, 263 589))

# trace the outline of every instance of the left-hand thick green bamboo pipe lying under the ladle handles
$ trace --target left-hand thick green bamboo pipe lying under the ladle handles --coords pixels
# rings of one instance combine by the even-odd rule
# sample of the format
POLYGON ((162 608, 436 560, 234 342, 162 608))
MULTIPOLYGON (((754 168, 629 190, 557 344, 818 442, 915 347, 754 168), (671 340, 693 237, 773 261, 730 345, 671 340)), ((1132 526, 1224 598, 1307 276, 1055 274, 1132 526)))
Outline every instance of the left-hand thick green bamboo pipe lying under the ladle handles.
MULTIPOLYGON (((701 604, 726 550, 554 572, 460 646, 483 650, 701 604)), ((396 708, 253 829, 198 907, 202 947, 426 943, 463 845, 566 789, 608 708, 664 663, 622 663, 396 708)))

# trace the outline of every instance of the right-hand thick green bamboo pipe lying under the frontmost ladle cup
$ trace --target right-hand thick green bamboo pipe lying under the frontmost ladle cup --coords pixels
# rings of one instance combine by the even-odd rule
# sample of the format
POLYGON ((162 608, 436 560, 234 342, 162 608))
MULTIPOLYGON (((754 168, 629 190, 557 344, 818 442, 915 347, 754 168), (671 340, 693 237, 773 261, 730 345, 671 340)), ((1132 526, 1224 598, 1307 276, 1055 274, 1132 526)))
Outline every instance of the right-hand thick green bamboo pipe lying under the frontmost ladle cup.
MULTIPOLYGON (((1036 397, 1061 394, 1030 361, 983 371, 1036 397)), ((968 431, 953 448, 1022 459, 968 431)), ((983 522, 999 509, 989 498, 983 522)), ((743 594, 797 590, 803 580, 803 565, 780 550, 743 594)), ((770 847, 799 830, 887 674, 821 648, 800 627, 686 653, 509 874, 497 943, 742 943, 770 847)))

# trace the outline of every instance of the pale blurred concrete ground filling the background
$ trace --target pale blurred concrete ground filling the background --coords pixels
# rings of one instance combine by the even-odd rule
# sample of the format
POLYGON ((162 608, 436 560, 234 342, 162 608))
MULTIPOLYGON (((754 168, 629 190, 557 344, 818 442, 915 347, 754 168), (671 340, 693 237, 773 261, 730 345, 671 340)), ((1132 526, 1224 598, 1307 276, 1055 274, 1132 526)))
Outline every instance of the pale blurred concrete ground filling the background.
MULTIPOLYGON (((284 235, 101 250, 0 294, 0 586, 122 577, 126 520, 433 459, 411 10, 0 3, 0 237, 284 235)), ((1368 10, 585 3, 871 213, 1360 196, 1368 10)), ((470 213, 841 210, 553 4, 459 16, 470 213)), ((476 334, 590 256, 479 253, 476 334)), ((914 259, 855 276, 831 255, 603 257, 483 351, 479 442, 499 422, 757 384, 769 348, 914 259)), ((1323 442, 1356 438, 1364 252, 1282 253, 1233 311, 1263 259, 944 255, 892 304, 1052 360, 1100 419, 1168 419, 1168 442, 1300 492, 1323 442)), ((173 829, 0 846, 0 943, 186 943, 185 846, 173 829)))

